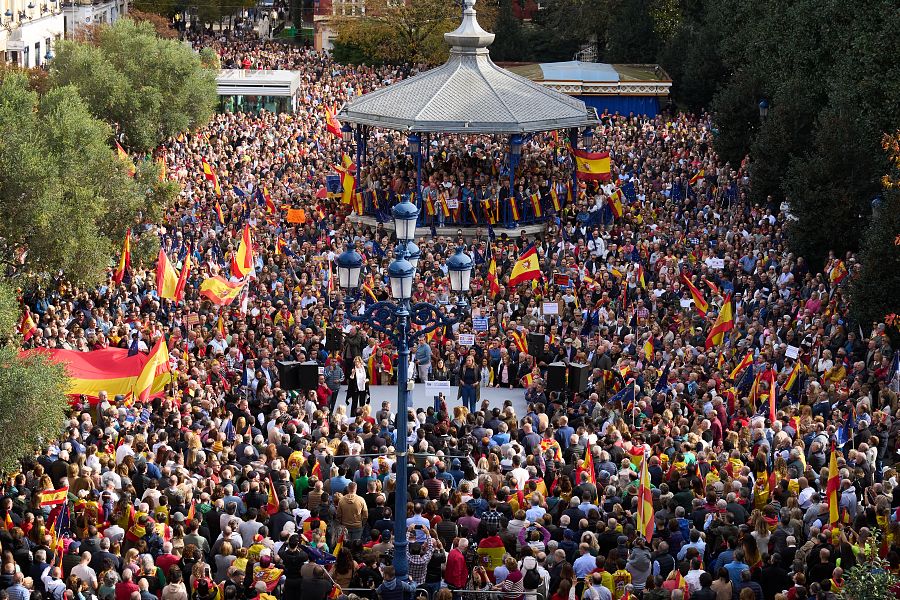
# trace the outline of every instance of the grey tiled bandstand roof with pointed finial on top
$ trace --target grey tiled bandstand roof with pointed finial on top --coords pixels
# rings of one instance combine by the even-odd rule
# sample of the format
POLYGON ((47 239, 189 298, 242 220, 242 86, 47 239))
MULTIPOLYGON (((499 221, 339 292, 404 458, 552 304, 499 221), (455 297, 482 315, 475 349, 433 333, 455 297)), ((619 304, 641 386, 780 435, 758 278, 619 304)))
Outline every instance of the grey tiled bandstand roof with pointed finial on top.
POLYGON ((464 0, 460 26, 444 34, 442 66, 354 98, 341 121, 385 129, 444 133, 528 133, 597 124, 584 102, 502 69, 478 24, 475 0, 464 0))

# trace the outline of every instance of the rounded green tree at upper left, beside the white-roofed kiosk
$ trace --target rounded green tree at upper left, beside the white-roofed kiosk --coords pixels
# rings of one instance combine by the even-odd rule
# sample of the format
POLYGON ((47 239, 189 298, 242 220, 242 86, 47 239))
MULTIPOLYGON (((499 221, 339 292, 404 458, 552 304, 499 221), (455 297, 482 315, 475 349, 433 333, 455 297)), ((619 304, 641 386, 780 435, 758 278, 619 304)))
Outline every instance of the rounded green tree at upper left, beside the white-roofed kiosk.
POLYGON ((197 53, 130 19, 101 27, 91 42, 61 41, 51 81, 74 86, 94 116, 119 124, 140 151, 204 124, 217 100, 215 72, 197 53))

